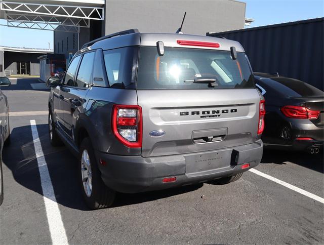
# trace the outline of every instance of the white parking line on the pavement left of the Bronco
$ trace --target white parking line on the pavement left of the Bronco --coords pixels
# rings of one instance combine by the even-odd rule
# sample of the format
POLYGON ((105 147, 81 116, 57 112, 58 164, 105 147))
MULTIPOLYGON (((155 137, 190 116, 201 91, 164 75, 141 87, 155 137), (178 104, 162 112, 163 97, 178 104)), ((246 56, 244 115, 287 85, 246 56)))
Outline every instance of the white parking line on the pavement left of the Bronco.
POLYGON ((49 174, 49 169, 44 157, 41 141, 39 140, 36 121, 30 120, 32 138, 37 158, 39 175, 41 176, 41 185, 43 190, 47 221, 50 228, 53 244, 68 244, 61 213, 56 202, 55 193, 49 174))

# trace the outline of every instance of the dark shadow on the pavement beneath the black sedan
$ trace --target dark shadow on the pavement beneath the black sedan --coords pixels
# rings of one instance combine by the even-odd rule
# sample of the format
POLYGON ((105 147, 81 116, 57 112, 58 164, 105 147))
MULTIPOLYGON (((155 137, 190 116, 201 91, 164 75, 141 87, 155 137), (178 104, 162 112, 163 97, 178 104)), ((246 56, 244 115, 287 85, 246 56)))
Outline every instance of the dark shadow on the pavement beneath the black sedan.
POLYGON ((264 149, 261 164, 285 164, 286 161, 324 173, 323 151, 309 154, 303 151, 281 151, 264 149))

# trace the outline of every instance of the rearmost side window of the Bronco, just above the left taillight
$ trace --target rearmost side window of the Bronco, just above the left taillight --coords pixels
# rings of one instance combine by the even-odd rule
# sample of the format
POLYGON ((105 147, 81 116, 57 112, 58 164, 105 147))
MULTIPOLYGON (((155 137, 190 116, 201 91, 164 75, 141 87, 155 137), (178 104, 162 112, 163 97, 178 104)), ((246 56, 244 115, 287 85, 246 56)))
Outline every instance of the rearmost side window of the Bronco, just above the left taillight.
POLYGON ((136 53, 136 47, 104 51, 104 61, 110 87, 126 88, 134 83, 133 64, 136 53))

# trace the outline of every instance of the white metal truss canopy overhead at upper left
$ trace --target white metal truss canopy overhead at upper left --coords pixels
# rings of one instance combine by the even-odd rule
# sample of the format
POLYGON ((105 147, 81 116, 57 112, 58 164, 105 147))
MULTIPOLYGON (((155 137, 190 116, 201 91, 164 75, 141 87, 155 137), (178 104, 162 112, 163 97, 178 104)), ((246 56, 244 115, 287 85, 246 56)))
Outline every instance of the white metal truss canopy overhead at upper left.
POLYGON ((0 0, 0 19, 9 27, 78 32, 104 20, 104 6, 104 0, 0 0))

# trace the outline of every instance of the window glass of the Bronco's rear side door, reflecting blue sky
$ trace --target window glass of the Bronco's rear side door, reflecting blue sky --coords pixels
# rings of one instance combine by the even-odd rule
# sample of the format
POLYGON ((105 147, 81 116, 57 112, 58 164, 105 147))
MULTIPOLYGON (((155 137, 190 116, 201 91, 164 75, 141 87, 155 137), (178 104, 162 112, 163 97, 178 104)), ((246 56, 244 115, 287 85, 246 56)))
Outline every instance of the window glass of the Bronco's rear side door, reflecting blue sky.
POLYGON ((84 54, 79 71, 76 76, 75 87, 88 88, 91 83, 91 74, 95 52, 84 54))

